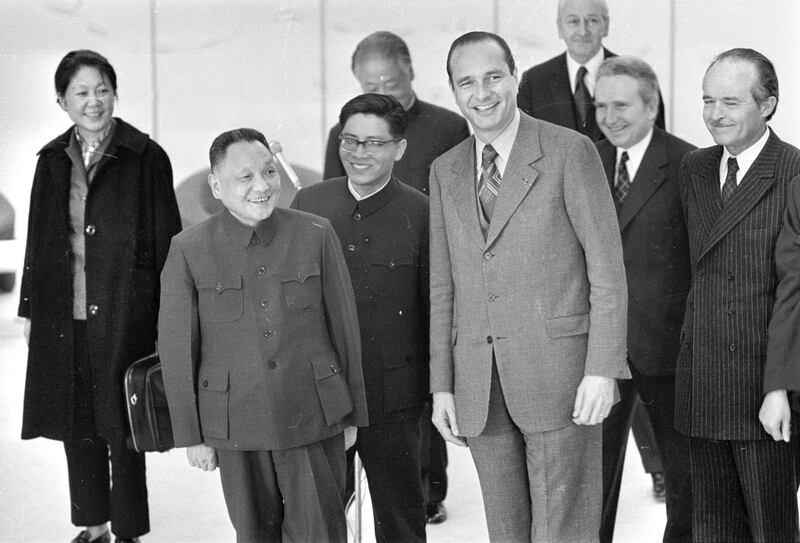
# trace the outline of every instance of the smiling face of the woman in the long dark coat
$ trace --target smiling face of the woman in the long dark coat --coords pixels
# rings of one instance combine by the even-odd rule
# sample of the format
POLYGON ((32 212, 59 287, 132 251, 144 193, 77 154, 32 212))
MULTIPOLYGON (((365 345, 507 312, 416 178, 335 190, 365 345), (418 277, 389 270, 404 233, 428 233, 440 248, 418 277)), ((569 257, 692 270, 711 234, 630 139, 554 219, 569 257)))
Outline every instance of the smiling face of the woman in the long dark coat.
POLYGON ((81 137, 94 141, 108 128, 115 99, 108 77, 93 66, 82 66, 58 97, 58 104, 78 127, 81 137))

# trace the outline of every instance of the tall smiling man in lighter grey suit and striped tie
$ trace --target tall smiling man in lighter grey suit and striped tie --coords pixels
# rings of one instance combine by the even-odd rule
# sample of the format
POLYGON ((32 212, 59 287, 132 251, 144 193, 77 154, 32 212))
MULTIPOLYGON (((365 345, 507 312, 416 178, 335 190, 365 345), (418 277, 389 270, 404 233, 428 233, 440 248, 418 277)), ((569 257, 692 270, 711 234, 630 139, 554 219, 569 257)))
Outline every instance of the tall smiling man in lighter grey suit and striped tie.
POLYGON ((519 112, 500 36, 459 37, 447 67, 475 137, 431 170, 433 421, 470 448, 491 540, 594 540, 598 423, 628 376, 602 164, 588 138, 519 112))

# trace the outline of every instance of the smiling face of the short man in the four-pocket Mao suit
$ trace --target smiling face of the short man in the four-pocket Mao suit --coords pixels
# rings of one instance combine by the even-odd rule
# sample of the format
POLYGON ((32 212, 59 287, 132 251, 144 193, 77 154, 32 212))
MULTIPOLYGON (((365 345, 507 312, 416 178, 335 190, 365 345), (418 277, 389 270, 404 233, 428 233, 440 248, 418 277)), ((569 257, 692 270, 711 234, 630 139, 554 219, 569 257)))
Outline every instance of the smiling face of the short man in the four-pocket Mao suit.
POLYGON ((231 215, 253 227, 272 215, 281 192, 275 159, 257 141, 231 144, 208 175, 208 184, 231 215))

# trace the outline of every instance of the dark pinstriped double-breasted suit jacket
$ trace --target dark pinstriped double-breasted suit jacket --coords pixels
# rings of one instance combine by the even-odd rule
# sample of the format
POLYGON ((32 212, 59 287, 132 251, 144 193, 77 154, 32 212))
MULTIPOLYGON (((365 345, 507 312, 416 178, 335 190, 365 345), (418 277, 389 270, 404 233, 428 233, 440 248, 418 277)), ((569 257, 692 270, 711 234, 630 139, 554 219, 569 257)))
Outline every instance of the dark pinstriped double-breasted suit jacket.
POLYGON ((681 167, 692 288, 675 375, 675 427, 706 439, 772 439, 758 412, 768 347, 787 340, 768 330, 778 285, 775 245, 789 184, 800 176, 800 150, 770 130, 724 206, 721 158, 717 145, 690 153, 681 167))

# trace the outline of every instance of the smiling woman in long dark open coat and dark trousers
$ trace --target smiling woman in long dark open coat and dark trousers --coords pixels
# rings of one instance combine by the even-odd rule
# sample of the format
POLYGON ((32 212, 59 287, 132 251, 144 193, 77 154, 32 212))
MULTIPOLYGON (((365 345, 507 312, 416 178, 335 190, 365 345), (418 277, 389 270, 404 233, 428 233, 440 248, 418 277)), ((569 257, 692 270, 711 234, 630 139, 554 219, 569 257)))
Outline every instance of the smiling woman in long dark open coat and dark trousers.
POLYGON ((39 151, 19 315, 27 319, 22 437, 64 442, 73 543, 149 531, 144 455, 126 446, 125 369, 153 351, 159 273, 180 230, 169 158, 113 117, 114 68, 72 51, 55 74, 74 125, 39 151), (111 475, 109 476, 109 457, 111 475))

